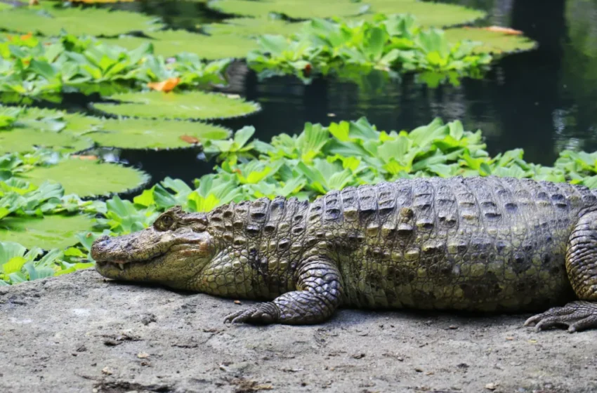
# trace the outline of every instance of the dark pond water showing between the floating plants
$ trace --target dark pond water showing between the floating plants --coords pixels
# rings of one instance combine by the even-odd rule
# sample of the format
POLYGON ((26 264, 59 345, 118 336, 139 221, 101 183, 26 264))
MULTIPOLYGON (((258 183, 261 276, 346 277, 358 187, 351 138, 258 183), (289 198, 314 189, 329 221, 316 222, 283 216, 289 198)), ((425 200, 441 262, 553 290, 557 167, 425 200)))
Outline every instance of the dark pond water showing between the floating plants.
MULTIPOLYGON (((522 30, 539 48, 506 56, 481 80, 461 86, 428 88, 412 78, 362 88, 320 79, 304 85, 281 77, 258 81, 248 69, 235 73, 230 91, 260 102, 263 111, 228 121, 233 129, 256 127, 256 138, 298 133, 307 122, 366 116, 379 130, 410 130, 435 116, 461 119, 466 129, 480 128, 490 154, 521 147, 525 159, 551 165, 562 149, 597 150, 597 4, 586 0, 447 1, 490 13, 481 25, 522 30)), ((171 25, 192 29, 214 20, 202 4, 145 1, 118 8, 159 15, 171 25)), ((371 81, 372 83, 375 80, 371 81)), ((197 151, 110 152, 114 159, 143 168, 153 181, 166 176, 191 181, 214 163, 197 151)))

